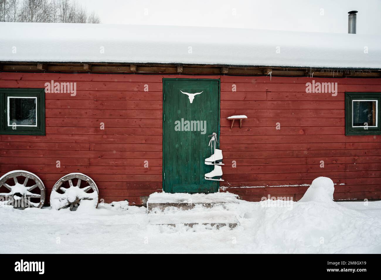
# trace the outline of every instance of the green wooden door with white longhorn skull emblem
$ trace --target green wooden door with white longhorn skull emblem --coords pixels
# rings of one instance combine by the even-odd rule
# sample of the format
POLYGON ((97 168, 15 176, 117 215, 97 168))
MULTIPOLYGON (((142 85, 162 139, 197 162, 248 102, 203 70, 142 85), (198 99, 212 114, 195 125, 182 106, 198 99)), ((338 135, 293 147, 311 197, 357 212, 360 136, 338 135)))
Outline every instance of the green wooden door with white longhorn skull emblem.
POLYGON ((219 135, 219 80, 163 79, 163 190, 217 192, 208 135, 219 135))

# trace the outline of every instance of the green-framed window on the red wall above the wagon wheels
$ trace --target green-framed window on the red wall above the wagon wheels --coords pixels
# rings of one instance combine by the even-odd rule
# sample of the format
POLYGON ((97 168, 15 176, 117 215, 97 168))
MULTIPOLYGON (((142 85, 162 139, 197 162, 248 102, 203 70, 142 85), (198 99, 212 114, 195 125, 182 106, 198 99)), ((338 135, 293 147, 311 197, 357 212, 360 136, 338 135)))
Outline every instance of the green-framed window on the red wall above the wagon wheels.
POLYGON ((45 135, 45 90, 0 88, 0 134, 45 135))

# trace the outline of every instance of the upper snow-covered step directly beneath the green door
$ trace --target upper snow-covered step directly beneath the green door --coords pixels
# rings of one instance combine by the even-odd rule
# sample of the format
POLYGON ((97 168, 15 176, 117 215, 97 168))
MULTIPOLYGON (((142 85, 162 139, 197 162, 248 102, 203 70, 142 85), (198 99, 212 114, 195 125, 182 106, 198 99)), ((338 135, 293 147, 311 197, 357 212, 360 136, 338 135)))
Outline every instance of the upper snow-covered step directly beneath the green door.
POLYGON ((148 213, 154 208, 165 210, 167 207, 176 207, 181 210, 190 210, 196 205, 212 208, 214 206, 223 206, 226 203, 238 202, 238 195, 228 192, 216 192, 213 194, 169 194, 165 192, 156 192, 149 196, 147 200, 147 210, 148 213))

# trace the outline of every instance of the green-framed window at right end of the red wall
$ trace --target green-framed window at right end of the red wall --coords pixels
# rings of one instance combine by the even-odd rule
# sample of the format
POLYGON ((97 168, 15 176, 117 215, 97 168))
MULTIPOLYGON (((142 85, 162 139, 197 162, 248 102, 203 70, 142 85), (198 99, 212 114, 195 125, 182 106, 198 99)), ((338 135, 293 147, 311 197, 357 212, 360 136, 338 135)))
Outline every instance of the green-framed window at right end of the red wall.
POLYGON ((345 134, 381 134, 381 93, 345 93, 345 134))

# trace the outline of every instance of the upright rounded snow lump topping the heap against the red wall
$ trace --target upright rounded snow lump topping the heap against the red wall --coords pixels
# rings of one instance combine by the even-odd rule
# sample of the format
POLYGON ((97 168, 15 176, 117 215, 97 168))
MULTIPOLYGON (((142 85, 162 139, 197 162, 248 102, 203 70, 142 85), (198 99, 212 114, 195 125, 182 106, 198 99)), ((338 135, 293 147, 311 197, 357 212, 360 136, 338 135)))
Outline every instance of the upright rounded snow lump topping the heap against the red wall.
POLYGON ((318 177, 312 181, 311 186, 299 200, 299 202, 320 201, 333 202, 333 192, 335 187, 333 181, 327 177, 318 177))

